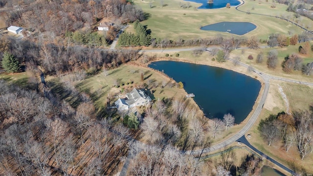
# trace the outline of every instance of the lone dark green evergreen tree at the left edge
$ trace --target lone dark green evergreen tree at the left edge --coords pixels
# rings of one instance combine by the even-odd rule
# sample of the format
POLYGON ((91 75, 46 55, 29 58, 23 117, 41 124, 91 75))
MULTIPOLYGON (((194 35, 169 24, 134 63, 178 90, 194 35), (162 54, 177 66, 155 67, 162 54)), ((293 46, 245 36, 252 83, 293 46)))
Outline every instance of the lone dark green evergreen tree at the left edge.
POLYGON ((19 60, 9 52, 4 52, 1 65, 8 73, 17 72, 20 69, 19 60))

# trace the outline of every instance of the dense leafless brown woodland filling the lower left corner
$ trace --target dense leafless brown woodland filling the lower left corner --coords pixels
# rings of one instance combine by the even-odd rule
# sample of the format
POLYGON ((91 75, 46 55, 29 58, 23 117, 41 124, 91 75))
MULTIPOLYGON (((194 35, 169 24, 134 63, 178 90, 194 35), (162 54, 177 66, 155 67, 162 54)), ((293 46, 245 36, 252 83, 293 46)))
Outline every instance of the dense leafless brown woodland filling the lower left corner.
POLYGON ((49 88, 27 90, 0 81, 0 175, 116 173, 130 132, 98 118, 87 94, 75 108, 49 88))

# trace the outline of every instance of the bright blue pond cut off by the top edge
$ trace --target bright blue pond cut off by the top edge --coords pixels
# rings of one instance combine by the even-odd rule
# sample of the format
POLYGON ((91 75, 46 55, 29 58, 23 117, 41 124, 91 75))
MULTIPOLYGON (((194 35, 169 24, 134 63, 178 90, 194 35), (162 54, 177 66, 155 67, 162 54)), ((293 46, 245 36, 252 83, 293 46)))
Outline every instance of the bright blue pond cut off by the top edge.
POLYGON ((230 6, 237 6, 240 4, 239 0, 213 0, 213 3, 207 3, 208 0, 185 0, 191 2, 201 3, 202 5, 198 7, 199 9, 216 9, 226 7, 227 3, 230 3, 230 6))

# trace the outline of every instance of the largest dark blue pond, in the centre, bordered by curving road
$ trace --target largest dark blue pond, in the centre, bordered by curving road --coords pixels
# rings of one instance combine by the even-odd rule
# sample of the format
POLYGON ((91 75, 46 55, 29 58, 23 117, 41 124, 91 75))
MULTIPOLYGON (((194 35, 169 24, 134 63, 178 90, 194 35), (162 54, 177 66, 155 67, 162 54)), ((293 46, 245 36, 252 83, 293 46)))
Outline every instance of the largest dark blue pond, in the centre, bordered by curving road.
POLYGON ((242 122, 255 103, 261 84, 256 79, 224 68, 175 61, 153 62, 149 67, 164 71, 176 82, 181 81, 187 93, 195 94, 195 102, 206 117, 222 119, 224 114, 242 122))

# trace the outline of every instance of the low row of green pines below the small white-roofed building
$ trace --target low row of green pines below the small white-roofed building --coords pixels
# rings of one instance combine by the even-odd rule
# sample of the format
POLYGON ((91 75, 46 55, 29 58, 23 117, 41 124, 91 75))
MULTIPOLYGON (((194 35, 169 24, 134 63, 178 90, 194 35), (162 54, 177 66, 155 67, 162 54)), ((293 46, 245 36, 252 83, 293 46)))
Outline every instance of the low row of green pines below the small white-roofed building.
POLYGON ((95 46, 107 45, 105 36, 96 32, 67 31, 65 37, 75 44, 89 44, 95 46))

